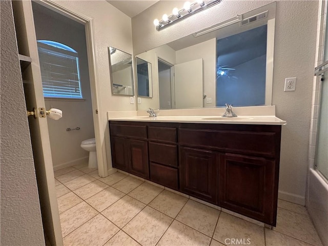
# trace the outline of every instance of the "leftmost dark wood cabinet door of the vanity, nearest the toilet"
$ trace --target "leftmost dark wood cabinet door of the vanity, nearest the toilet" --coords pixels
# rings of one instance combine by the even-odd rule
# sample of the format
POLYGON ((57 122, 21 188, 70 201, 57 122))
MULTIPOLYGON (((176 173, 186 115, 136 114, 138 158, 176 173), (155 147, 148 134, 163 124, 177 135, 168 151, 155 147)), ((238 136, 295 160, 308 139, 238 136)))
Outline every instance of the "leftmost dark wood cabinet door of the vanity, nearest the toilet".
POLYGON ((125 138, 111 137, 113 167, 128 172, 129 163, 126 141, 125 138))

